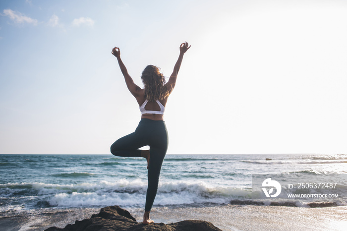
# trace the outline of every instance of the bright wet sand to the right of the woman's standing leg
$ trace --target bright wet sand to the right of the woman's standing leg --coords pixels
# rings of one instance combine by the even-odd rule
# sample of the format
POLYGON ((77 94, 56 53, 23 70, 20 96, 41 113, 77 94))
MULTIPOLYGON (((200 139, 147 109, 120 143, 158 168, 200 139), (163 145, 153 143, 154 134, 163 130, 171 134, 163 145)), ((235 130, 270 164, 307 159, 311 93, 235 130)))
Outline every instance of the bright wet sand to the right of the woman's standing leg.
MULTIPOLYGON (((136 220, 141 214, 132 211, 136 220)), ((156 208, 151 212, 156 223, 181 220, 212 222, 224 231, 342 231, 347 227, 347 206, 298 208, 285 206, 225 205, 204 208, 156 208)))

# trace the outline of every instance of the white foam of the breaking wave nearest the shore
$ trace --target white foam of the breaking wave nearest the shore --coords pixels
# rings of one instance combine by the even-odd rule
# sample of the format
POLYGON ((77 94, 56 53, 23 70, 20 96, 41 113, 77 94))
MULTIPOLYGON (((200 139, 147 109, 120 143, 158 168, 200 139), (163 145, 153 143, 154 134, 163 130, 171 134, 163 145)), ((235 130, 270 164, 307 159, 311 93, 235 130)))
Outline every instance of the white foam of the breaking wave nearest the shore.
MULTIPOLYGON (((32 188, 37 194, 26 195, 26 199, 41 197, 51 206, 58 207, 87 207, 87 206, 143 206, 146 199, 147 182, 141 179, 121 179, 116 182, 101 181, 99 183, 78 184, 46 184, 46 183, 14 183, 2 184, 1 187, 32 188)), ((345 189, 344 186, 340 186, 345 189)), ((337 188, 337 190, 340 188, 337 188)), ((276 202, 284 204, 283 199, 276 202)), ((216 187, 206 182, 162 182, 159 184, 154 205, 189 205, 189 204, 228 204, 231 201, 252 202, 252 192, 249 189, 235 187, 216 187)), ((275 201, 275 200, 272 200, 275 201)), ((256 202, 256 201, 255 201, 256 202)), ((263 204, 270 203, 265 200, 263 204)), ((288 203, 292 203, 287 199, 288 203)), ((344 201, 337 201, 344 204, 344 201)), ((296 203, 296 202, 295 202, 296 203)), ((294 203, 294 204, 295 204, 294 203)), ((296 206, 307 206, 297 204, 296 206)))

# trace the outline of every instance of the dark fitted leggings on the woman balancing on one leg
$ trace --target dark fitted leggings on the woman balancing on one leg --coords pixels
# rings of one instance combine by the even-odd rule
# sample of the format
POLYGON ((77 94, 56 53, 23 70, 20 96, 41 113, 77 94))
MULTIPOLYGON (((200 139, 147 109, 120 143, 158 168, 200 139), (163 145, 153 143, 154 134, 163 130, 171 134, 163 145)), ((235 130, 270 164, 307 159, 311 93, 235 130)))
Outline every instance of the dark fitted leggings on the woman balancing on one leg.
POLYGON ((111 153, 120 157, 140 157, 141 148, 149 145, 148 187, 145 211, 151 211, 157 195, 159 174, 168 150, 168 130, 162 120, 143 118, 135 132, 118 139, 111 146, 111 153))

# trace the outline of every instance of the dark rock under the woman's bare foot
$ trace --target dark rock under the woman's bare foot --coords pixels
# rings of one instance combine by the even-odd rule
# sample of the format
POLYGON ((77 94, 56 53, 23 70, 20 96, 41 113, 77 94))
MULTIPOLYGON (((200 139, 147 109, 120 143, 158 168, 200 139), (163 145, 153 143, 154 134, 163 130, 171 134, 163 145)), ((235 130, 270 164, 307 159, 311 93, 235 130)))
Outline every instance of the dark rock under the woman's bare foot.
POLYGON ((128 211, 119 206, 102 208, 90 219, 76 221, 65 228, 51 227, 46 231, 221 231, 210 222, 181 221, 171 224, 152 223, 144 225, 136 222, 128 211))

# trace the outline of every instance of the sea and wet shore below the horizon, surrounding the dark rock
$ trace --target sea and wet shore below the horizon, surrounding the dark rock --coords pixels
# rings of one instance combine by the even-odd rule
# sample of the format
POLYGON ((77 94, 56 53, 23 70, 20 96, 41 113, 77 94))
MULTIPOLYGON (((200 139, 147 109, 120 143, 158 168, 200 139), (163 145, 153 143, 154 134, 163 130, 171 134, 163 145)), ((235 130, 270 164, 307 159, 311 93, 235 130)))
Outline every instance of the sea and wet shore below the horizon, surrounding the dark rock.
MULTIPOLYGON (((278 213, 292 218, 303 213, 301 222, 306 216, 307 224, 301 228, 309 228, 312 217, 325 214, 319 220, 321 230, 326 224, 330 224, 327 230, 339 230, 347 225, 346 164, 346 154, 167 155, 151 218, 164 223, 204 219, 222 230, 275 230, 276 226, 264 219, 256 222, 257 218, 277 214, 271 219, 281 221, 278 213), (279 191, 276 185, 265 185, 275 180, 281 185, 278 196, 274 196, 279 191), (265 191, 274 197, 267 197, 265 191), (304 197, 288 197, 295 193, 304 197), (260 217, 254 217, 256 213, 260 217)), ((146 167, 144 158, 111 154, 0 155, 0 226, 4 230, 62 228, 112 205, 129 210, 141 221, 146 167)), ((288 229, 282 230, 293 228, 290 219, 284 226, 288 229)))

